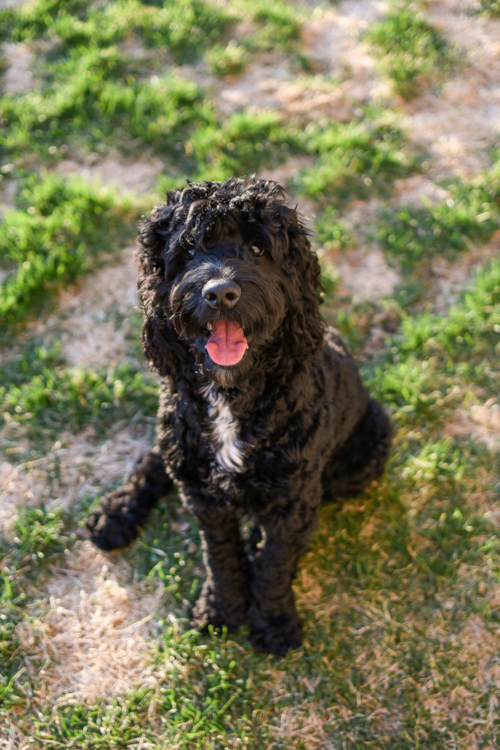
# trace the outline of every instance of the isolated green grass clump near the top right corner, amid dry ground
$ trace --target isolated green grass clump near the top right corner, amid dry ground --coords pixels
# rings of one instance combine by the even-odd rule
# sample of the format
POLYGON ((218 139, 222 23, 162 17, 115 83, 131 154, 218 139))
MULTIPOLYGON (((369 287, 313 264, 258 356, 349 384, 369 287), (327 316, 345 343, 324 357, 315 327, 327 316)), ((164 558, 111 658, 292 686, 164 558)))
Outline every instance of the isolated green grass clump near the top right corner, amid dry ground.
POLYGON ((379 49, 381 69, 405 99, 418 96, 422 86, 435 84, 449 69, 453 56, 446 42, 422 12, 400 8, 371 26, 365 38, 379 49))

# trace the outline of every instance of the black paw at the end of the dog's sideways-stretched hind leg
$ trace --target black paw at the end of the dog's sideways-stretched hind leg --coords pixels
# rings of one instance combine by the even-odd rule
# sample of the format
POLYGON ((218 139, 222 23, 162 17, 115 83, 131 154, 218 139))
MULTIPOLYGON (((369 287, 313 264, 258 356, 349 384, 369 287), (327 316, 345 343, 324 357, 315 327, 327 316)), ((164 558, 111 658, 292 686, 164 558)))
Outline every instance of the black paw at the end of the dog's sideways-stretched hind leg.
POLYGON ((137 517, 130 508, 130 495, 124 489, 110 492, 94 510, 87 522, 92 542, 104 550, 126 547, 139 533, 137 517))

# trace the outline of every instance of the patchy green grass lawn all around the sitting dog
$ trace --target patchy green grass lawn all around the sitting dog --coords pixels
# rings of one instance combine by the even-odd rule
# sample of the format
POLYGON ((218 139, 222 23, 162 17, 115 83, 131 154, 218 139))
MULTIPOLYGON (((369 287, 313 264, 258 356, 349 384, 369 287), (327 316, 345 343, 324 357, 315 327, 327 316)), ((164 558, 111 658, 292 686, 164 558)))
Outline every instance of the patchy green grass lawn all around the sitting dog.
MULTIPOLYGON (((289 4, 263 0, 36 0, 0 13, 2 38, 31 45, 36 56, 34 88, 0 100, 0 189, 15 187, 0 227, 0 471, 8 497, 8 483, 21 487, 13 525, 0 538, 0 744, 499 745, 500 476, 485 442, 495 441, 494 423, 478 422, 475 409, 498 400, 500 264, 483 264, 443 314, 433 309, 429 285, 434 260, 453 263, 498 230, 498 158, 492 153, 493 166, 477 178, 441 181, 447 193, 437 205, 403 207, 392 200, 394 181, 418 174, 426 156, 413 150, 395 113, 366 106, 349 122, 306 126, 255 109, 222 117, 210 92, 179 69, 237 76, 271 52, 307 71, 305 20, 289 4), (104 451, 121 430, 132 458, 130 425, 149 424, 157 399, 154 377, 133 364, 137 341, 127 341, 124 363, 77 368, 49 343, 57 339, 58 291, 116 258, 145 210, 142 199, 56 174, 61 159, 83 163, 90 152, 101 159, 111 150, 123 159, 161 158, 158 197, 186 176, 224 179, 310 157, 291 187, 316 213, 324 314, 397 432, 384 478, 357 501, 322 508, 295 585, 304 646, 282 660, 252 651, 245 628, 222 636, 190 629, 204 575, 200 539, 174 495, 166 498, 123 553, 131 580, 120 582, 125 597, 161 590, 144 656, 145 673, 156 678, 89 704, 79 695, 54 698, 47 670, 65 665, 61 654, 47 662, 40 633, 51 637, 49 584, 78 558, 80 519, 118 480, 75 455, 74 476, 66 442, 83 438, 104 451), (373 198, 381 204, 377 226, 352 226, 352 201, 363 216, 359 202, 373 198), (340 296, 334 258, 346 253, 349 261, 361 241, 378 243, 401 285, 386 299, 352 304, 340 296), (49 316, 56 334, 50 326, 41 334, 49 316), (384 337, 375 350, 374 331, 384 337), (37 499, 38 490, 50 503, 37 499), (63 512, 56 498, 70 496, 77 500, 63 512)), ((405 97, 438 84, 453 60, 413 6, 369 23, 366 38, 405 97)), ((154 200, 147 198, 148 210, 154 200)), ((138 315, 130 316, 138 339, 138 315)), ((2 528, 9 511, 2 498, 2 528)), ((106 560, 103 580, 121 559, 106 560)), ((79 617, 84 626, 83 610, 79 617)))

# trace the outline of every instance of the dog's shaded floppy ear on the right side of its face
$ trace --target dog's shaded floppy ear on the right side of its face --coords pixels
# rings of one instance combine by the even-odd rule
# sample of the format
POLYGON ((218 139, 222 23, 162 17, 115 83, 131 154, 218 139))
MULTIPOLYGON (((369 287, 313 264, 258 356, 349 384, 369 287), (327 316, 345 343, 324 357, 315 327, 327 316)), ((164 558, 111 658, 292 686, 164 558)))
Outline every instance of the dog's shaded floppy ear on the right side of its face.
MULTIPOLYGON (((296 217, 296 213, 293 212, 296 217)), ((307 230, 299 221, 288 226, 287 271, 293 279, 283 333, 289 351, 298 360, 316 356, 323 346, 325 324, 319 314, 321 304, 321 268, 311 249, 307 230)))

